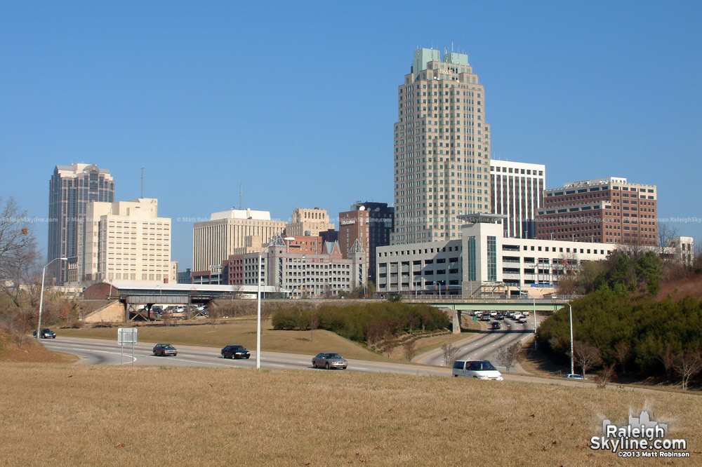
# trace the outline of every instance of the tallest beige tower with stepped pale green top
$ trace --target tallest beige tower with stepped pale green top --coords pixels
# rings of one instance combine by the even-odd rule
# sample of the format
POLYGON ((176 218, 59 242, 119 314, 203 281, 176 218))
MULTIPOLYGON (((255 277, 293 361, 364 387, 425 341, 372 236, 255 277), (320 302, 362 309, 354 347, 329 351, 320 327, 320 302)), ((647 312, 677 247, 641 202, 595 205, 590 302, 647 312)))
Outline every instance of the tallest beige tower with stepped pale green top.
POLYGON ((485 90, 468 55, 421 48, 397 93, 390 243, 458 238, 458 215, 490 212, 485 90))

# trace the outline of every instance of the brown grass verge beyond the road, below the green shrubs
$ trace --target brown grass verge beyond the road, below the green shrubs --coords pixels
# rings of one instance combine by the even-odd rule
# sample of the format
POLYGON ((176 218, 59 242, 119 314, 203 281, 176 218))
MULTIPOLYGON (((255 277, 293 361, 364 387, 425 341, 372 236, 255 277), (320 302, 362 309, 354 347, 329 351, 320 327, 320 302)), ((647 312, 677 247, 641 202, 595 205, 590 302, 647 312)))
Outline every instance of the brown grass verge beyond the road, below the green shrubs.
MULTIPOLYGON (((117 341, 117 327, 94 327, 85 329, 58 330, 65 337, 90 337, 117 341)), ((445 334, 417 341, 417 353, 441 347, 445 342, 465 339, 467 334, 445 334)), ((215 327, 209 324, 188 326, 140 326, 139 341, 169 342, 174 345, 211 346, 221 348, 228 344, 241 344, 246 348, 256 348, 256 318, 236 320, 215 327)), ((316 355, 319 352, 335 351, 345 358, 381 362, 407 362, 401 349, 388 358, 369 351, 361 344, 340 337, 333 332, 316 330, 314 337, 310 331, 272 330, 270 320, 263 323, 261 348, 264 351, 301 353, 316 355)))

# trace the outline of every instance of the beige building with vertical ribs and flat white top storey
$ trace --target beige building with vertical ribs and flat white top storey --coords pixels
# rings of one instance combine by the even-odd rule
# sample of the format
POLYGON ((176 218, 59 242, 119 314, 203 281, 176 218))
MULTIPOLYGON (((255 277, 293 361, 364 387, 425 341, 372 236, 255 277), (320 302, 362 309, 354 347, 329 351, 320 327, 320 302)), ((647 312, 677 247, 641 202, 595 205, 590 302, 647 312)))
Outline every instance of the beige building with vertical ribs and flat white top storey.
POLYGON ((246 248, 258 251, 260 245, 265 246, 272 238, 283 234, 287 226, 285 221, 271 220, 268 211, 213 212, 210 220, 196 222, 193 226, 192 270, 208 271, 230 255, 246 252, 246 248), (259 239, 259 245, 255 245, 259 239))

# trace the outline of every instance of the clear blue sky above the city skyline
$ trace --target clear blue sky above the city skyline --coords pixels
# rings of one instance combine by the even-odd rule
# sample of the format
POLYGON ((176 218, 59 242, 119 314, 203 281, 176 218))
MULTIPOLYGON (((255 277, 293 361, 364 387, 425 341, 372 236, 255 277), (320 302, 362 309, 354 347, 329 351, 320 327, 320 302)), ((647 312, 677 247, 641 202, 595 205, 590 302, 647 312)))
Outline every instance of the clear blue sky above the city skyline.
POLYGON ((548 187, 657 184, 660 217, 702 217, 701 25, 699 1, 5 1, 0 196, 47 217, 55 165, 110 169, 121 201, 144 167, 181 269, 178 218, 238 206, 239 183, 280 219, 392 203, 397 86, 413 50, 453 44, 494 157, 545 164, 548 187))

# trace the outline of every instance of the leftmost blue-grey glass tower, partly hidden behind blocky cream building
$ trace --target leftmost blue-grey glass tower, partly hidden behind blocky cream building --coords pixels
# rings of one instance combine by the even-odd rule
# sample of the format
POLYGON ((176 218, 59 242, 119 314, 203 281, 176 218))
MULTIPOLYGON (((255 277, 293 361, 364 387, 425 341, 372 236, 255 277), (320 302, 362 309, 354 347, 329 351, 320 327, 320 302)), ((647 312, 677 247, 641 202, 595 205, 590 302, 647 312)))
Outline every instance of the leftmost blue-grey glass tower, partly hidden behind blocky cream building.
POLYGON ((78 229, 91 201, 114 201, 114 180, 110 170, 94 164, 56 165, 48 184, 47 261, 66 257, 51 264, 48 277, 56 283, 78 280, 69 277, 77 271, 78 229))

